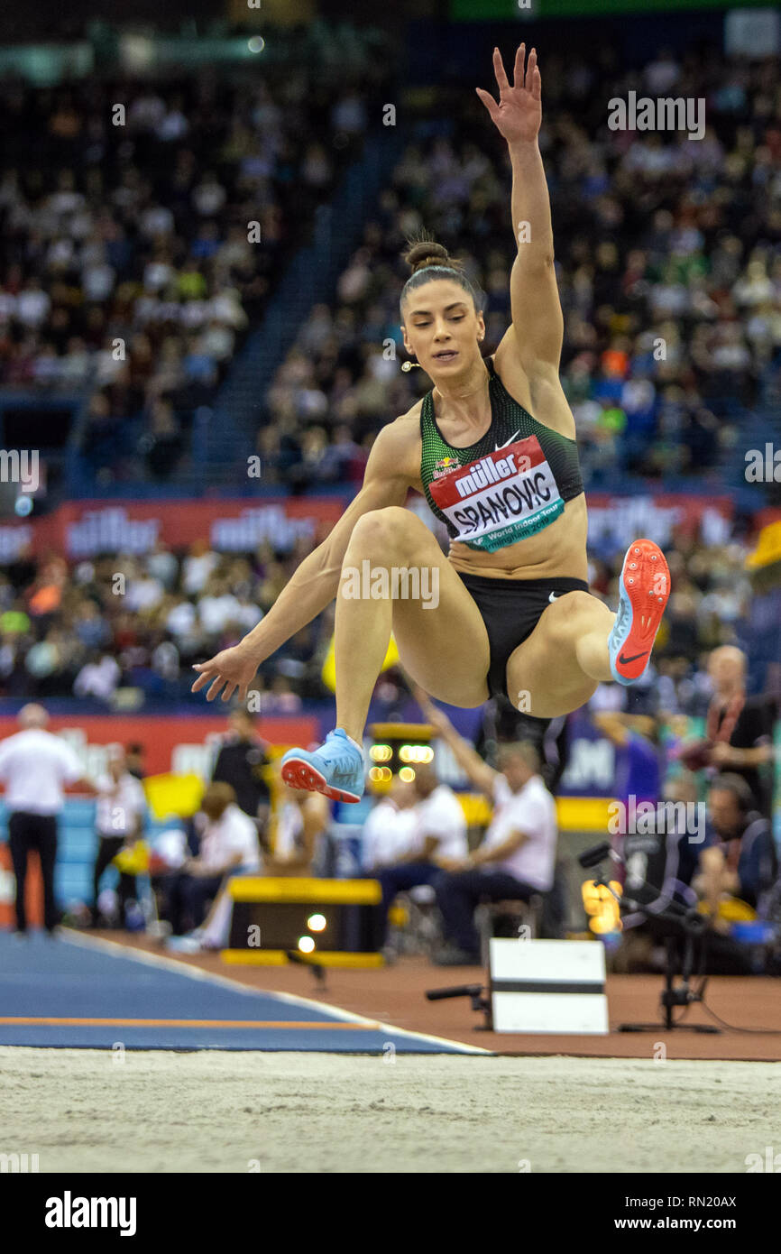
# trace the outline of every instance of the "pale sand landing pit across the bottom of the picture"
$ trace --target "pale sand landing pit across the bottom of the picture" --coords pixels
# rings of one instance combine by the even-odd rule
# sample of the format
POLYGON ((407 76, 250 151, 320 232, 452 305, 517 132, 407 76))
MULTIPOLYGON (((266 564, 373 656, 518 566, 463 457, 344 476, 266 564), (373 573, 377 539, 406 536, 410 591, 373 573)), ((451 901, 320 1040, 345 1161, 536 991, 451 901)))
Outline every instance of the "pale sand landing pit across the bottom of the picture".
POLYGON ((41 1172, 740 1174, 780 1110, 765 1062, 0 1048, 41 1172))

